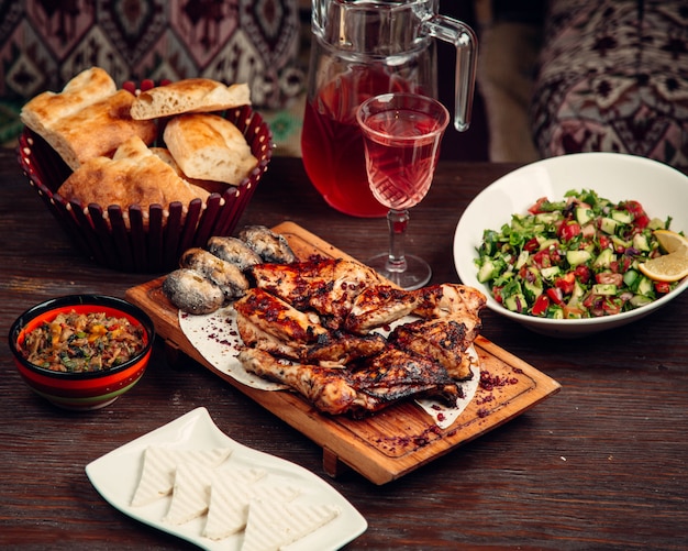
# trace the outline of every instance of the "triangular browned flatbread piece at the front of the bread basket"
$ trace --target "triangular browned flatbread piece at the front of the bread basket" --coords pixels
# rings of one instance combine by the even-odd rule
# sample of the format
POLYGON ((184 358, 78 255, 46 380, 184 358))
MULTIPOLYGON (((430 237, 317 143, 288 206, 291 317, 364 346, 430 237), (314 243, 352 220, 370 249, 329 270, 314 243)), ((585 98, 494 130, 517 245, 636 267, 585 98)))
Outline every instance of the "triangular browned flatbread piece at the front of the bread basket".
POLYGON ((154 203, 166 207, 180 201, 188 205, 196 198, 206 201, 209 196, 206 189, 180 178, 136 136, 123 143, 112 158, 88 159, 57 192, 67 200, 76 199, 85 205, 119 205, 123 209, 138 205, 144 211, 154 203))

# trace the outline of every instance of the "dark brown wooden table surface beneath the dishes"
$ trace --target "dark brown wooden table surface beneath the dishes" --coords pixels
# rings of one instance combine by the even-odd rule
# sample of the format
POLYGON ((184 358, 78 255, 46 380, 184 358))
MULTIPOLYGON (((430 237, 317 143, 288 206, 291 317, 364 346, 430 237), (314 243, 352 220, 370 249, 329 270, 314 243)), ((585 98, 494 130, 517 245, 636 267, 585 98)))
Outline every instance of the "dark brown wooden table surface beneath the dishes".
MULTIPOLYGON (((458 282, 454 229, 468 202, 514 166, 442 163, 411 214, 410 249, 433 280, 458 282)), ((387 245, 384 220, 339 214, 301 162, 276 158, 243 223, 291 220, 365 258, 387 245)), ((0 152, 0 332, 30 306, 73 293, 124 291, 154 275, 93 265, 0 152)), ((21 382, 0 353, 0 547, 187 549, 118 511, 85 466, 199 406, 235 440, 328 478, 367 519, 347 549, 684 549, 688 546, 688 294, 641 322, 566 341, 492 312, 482 334, 558 381, 562 392, 402 478, 376 486, 355 472, 330 480, 322 451, 191 361, 165 362, 112 406, 74 414, 21 382)))

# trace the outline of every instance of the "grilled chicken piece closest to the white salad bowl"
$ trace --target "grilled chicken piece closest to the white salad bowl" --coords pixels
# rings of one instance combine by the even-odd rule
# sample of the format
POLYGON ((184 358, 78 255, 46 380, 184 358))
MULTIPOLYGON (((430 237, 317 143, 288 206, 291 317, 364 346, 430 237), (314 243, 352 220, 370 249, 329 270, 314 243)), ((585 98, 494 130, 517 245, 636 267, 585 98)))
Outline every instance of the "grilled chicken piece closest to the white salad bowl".
POLYGON ((476 315, 487 304, 482 293, 474 287, 445 283, 418 289, 419 305, 413 310, 421 318, 444 318, 476 315))

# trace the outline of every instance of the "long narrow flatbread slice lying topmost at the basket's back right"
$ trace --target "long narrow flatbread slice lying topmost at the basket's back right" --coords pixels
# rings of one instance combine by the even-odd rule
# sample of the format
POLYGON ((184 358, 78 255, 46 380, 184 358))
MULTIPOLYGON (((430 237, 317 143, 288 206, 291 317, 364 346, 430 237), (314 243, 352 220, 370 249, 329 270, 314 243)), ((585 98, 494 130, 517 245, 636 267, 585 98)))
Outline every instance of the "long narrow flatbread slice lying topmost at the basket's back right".
POLYGON ((187 78, 142 91, 132 104, 131 114, 136 120, 147 120, 247 104, 251 104, 248 85, 226 86, 209 78, 187 78))

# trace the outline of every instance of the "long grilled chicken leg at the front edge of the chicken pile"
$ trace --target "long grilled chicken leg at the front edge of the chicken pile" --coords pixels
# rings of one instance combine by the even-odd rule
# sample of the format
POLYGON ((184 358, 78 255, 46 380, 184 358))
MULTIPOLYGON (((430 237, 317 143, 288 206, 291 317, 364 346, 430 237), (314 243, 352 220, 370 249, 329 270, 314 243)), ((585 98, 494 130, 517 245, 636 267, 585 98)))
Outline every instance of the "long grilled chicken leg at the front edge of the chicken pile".
POLYGON ((282 383, 320 411, 359 417, 412 396, 456 399, 460 389, 439 364, 400 350, 388 349, 356 371, 320 365, 286 364, 265 351, 244 349, 238 354, 246 371, 282 383), (381 357, 388 354, 388 356, 381 357))

